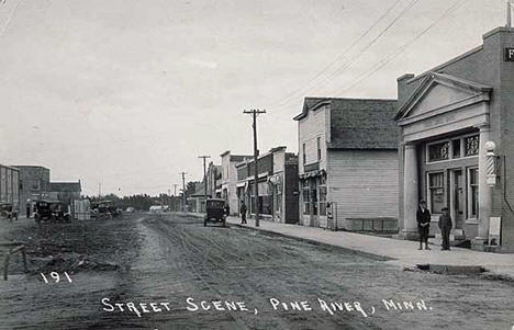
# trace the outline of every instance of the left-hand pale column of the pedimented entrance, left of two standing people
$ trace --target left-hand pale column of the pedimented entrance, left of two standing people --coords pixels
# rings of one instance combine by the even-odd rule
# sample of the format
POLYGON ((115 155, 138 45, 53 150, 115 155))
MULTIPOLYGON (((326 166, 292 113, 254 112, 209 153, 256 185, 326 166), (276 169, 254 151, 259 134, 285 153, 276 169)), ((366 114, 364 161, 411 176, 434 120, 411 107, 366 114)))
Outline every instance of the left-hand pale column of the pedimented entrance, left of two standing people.
POLYGON ((416 210, 418 201, 417 152, 415 144, 405 144, 403 162, 403 236, 417 235, 416 210))

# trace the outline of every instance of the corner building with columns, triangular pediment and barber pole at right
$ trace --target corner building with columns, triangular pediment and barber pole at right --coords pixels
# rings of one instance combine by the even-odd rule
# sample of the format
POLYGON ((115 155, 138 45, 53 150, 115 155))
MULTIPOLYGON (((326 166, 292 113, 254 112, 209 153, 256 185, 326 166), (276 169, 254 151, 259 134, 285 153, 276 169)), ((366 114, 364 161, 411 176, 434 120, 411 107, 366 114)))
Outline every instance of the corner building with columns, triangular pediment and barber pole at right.
POLYGON ((398 78, 399 227, 417 235, 426 200, 431 234, 448 207, 451 240, 514 252, 514 30, 422 75, 398 78))

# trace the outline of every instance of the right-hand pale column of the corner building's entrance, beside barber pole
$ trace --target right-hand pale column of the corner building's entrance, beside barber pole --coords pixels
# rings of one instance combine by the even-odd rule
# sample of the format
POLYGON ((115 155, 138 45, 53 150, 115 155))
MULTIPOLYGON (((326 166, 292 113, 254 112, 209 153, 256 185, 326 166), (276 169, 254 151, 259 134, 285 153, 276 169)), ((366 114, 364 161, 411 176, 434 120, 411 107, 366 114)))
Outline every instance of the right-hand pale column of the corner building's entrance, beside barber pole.
POLYGON ((480 127, 479 149, 479 225, 477 240, 485 241, 489 238, 489 217, 491 216, 492 192, 488 185, 487 150, 485 143, 491 139, 489 125, 480 127))

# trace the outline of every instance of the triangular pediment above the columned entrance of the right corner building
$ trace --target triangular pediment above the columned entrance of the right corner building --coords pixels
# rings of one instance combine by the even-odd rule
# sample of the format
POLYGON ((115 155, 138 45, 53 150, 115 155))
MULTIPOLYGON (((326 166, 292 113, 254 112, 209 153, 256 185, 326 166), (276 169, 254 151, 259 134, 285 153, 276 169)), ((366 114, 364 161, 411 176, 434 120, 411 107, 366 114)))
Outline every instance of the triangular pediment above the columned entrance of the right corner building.
POLYGON ((489 101, 492 88, 445 73, 429 73, 400 107, 394 120, 402 121, 436 110, 489 101))

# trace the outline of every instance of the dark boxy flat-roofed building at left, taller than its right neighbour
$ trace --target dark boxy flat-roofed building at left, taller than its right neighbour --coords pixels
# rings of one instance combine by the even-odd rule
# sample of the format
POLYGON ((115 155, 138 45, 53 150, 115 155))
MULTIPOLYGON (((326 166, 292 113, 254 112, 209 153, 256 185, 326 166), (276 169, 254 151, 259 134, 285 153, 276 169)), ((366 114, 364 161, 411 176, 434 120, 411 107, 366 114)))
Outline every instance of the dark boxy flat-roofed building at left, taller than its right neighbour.
POLYGON ((20 213, 26 215, 26 204, 48 198, 49 169, 38 166, 14 166, 20 170, 20 213))

